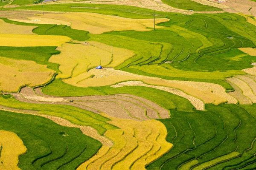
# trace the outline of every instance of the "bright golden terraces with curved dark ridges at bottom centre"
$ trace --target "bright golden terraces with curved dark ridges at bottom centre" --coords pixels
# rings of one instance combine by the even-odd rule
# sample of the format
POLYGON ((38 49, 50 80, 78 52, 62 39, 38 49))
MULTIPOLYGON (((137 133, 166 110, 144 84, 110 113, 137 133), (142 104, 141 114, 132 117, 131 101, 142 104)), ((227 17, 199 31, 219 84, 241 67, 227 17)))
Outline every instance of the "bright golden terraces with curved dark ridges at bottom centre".
POLYGON ((107 130, 104 134, 113 140, 114 146, 102 147, 95 156, 81 164, 78 170, 145 170, 145 165, 162 156, 173 146, 165 140, 166 127, 157 120, 138 122, 105 114, 103 116, 112 119, 109 123, 120 128, 107 130))

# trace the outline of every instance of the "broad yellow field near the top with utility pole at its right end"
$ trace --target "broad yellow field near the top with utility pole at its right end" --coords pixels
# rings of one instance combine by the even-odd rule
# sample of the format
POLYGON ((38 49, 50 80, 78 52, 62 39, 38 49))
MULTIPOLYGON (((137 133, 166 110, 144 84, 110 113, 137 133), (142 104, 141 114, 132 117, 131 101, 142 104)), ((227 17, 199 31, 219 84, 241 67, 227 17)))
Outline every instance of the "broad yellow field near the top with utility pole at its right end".
MULTIPOLYGON (((91 34, 102 34, 109 31, 150 31, 154 27, 153 19, 130 19, 111 15, 67 12, 64 14, 45 14, 45 18, 63 20, 71 23, 71 28, 89 31, 91 34)), ((36 19, 36 17, 35 17, 36 19)), ((39 19, 38 19, 39 20, 39 19)), ((155 24, 167 22, 169 19, 157 18, 155 24)), ((161 28, 156 26, 156 28, 161 28)))

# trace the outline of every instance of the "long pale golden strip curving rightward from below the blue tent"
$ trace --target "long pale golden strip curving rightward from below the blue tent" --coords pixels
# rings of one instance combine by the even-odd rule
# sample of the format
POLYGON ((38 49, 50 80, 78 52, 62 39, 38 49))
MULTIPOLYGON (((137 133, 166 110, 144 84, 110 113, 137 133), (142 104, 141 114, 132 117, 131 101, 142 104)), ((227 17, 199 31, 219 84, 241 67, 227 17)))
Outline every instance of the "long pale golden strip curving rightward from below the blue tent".
MULTIPOLYGON (((77 84, 74 84, 73 82, 69 81, 69 79, 64 79, 63 81, 68 84, 76 85, 79 87, 93 87, 93 86, 113 85, 118 82, 125 82, 129 80, 140 80, 149 85, 178 88, 186 92, 187 94, 190 94, 192 96, 195 96, 198 99, 203 100, 206 103, 219 104, 221 102, 230 102, 230 103, 237 102, 236 99, 234 99, 232 96, 229 96, 225 93, 224 88, 211 83, 164 80, 159 78, 152 78, 152 77, 146 77, 146 76, 141 76, 137 74, 131 74, 125 71, 117 71, 109 68, 102 69, 102 70, 92 69, 88 71, 88 73, 84 73, 84 75, 86 75, 84 77, 87 77, 87 79, 84 79, 78 82, 77 84)), ((112 87, 115 87, 115 86, 112 86, 112 87)), ((176 95, 178 94, 180 96, 182 91, 175 94, 176 95)), ((186 96, 185 98, 189 98, 189 96, 186 96)))

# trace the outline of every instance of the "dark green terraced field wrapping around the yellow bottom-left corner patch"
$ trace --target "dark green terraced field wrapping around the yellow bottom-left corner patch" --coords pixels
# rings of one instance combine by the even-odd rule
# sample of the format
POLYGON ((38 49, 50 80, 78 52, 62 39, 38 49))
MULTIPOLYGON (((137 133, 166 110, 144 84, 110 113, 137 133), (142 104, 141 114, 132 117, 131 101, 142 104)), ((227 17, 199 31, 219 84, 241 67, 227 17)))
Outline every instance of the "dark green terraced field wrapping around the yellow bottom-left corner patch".
POLYGON ((27 147, 19 158, 23 170, 75 170, 101 147, 80 129, 63 127, 40 116, 0 111, 0 129, 16 133, 27 147))

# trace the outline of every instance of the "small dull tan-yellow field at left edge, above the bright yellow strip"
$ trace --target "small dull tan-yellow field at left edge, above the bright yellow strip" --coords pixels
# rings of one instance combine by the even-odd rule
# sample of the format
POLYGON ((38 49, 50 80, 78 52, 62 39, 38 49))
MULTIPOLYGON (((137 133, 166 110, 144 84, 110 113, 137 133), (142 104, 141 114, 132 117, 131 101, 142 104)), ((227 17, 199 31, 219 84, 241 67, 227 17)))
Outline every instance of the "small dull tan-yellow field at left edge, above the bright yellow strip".
POLYGON ((0 33, 1 34, 34 34, 32 30, 36 26, 18 26, 15 24, 9 24, 0 20, 0 33))

